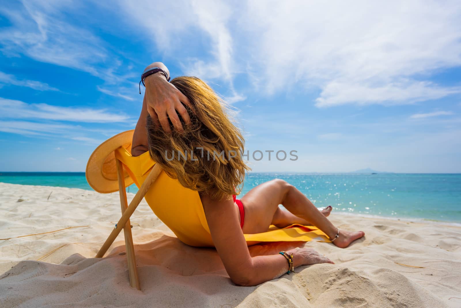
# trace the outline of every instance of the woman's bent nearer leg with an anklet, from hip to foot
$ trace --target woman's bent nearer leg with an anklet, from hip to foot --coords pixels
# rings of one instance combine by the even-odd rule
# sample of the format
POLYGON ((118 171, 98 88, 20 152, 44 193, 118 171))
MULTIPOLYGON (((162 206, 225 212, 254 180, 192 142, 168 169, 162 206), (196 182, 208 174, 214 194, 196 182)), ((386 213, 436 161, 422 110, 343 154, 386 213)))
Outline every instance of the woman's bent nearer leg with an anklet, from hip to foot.
MULTIPOLYGON (((334 238, 337 228, 315 207, 305 195, 284 180, 275 179, 258 185, 242 198, 245 209, 243 233, 260 233, 267 230, 276 214, 280 217, 278 205, 282 204, 298 219, 308 222, 322 230, 328 237, 334 238)), ((283 214, 282 214, 283 215, 283 214)), ((284 216, 287 218, 287 216, 284 216)), ((277 221, 274 221, 277 222, 277 221)), ((296 223, 293 222, 293 223, 296 223)), ((333 242, 338 247, 347 247, 352 241, 363 237, 362 231, 340 231, 340 236, 333 242)))

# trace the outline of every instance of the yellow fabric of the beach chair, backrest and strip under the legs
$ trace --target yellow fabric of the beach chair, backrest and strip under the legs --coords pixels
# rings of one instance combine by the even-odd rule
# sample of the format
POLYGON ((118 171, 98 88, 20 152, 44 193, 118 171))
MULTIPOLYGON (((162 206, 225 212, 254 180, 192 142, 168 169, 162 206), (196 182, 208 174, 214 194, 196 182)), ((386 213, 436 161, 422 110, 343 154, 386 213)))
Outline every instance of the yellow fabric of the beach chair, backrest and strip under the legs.
MULTIPOLYGON (((115 156, 124 164, 125 170, 138 188, 155 164, 149 152, 131 156, 128 150, 120 147, 115 151, 115 156)), ((183 243, 198 247, 214 247, 197 191, 183 187, 177 179, 161 172, 145 195, 145 199, 154 214, 183 243)), ((308 242, 313 239, 330 242, 317 227, 302 225, 291 225, 284 229, 271 226, 266 232, 244 236, 247 242, 308 242)))

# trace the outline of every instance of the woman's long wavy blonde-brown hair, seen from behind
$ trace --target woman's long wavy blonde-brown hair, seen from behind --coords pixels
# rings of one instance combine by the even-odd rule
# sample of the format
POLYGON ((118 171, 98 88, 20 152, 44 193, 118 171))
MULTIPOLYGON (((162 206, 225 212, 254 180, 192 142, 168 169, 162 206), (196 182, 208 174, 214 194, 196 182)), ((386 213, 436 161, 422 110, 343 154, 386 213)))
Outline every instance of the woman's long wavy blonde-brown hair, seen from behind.
POLYGON ((250 168, 242 160, 245 140, 232 123, 228 107, 197 77, 176 77, 171 83, 189 99, 194 112, 186 107, 191 123, 183 123, 183 133, 171 123, 171 132, 166 133, 148 117, 151 158, 186 188, 218 200, 238 195, 250 168))

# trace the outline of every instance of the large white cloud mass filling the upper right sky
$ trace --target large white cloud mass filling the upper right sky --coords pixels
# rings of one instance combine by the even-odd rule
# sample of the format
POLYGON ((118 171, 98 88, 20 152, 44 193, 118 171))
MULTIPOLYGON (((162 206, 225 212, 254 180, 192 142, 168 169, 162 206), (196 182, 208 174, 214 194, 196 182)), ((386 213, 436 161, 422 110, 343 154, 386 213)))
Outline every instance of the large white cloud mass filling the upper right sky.
POLYGON ((269 93, 294 81, 319 88, 316 105, 329 107, 406 104, 461 92, 413 79, 461 64, 458 1, 252 1, 247 14, 251 61, 264 71, 269 93))

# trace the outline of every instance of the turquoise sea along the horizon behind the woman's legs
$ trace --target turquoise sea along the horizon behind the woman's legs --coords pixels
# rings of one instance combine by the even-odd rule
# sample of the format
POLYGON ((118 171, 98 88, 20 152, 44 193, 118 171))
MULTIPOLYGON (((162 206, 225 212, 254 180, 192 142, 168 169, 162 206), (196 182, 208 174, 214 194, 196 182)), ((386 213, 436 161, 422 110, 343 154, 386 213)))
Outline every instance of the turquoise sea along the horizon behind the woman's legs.
MULTIPOLYGON (((282 178, 317 207, 393 218, 461 222, 461 174, 249 173, 243 194, 282 178)), ((0 172, 0 182, 91 190, 84 172, 0 172)), ((136 192, 135 185, 127 188, 136 192)))

